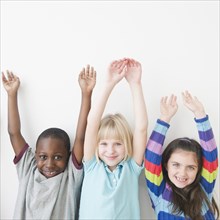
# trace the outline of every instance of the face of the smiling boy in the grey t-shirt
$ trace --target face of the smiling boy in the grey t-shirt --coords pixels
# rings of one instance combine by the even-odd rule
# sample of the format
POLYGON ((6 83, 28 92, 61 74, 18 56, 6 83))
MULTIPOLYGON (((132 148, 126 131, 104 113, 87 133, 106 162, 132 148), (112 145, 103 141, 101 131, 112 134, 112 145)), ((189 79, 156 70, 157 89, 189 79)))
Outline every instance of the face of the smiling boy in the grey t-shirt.
POLYGON ((36 147, 35 158, 40 173, 46 178, 51 178, 65 170, 69 152, 62 140, 42 138, 36 147))

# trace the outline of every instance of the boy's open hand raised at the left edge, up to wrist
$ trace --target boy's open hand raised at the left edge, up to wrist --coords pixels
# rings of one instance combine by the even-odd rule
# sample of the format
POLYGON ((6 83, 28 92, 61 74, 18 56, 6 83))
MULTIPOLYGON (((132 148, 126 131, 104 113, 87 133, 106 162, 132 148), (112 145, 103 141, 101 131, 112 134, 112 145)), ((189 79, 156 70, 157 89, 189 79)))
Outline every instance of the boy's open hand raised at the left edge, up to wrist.
POLYGON ((17 93, 20 86, 20 80, 15 74, 8 70, 6 70, 6 73, 2 72, 2 82, 8 95, 13 95, 17 93))

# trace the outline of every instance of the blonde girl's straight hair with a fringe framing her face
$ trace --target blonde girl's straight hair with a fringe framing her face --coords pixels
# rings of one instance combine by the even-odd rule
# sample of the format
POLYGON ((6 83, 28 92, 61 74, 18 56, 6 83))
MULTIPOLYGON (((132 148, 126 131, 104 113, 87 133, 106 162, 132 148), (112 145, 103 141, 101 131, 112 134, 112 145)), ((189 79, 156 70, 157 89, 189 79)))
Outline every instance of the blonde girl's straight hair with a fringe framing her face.
POLYGON ((100 140, 109 138, 120 140, 124 144, 124 160, 127 160, 128 157, 132 156, 133 134, 127 120, 123 115, 119 113, 108 114, 102 118, 97 135, 96 159, 98 161, 98 143, 100 140))

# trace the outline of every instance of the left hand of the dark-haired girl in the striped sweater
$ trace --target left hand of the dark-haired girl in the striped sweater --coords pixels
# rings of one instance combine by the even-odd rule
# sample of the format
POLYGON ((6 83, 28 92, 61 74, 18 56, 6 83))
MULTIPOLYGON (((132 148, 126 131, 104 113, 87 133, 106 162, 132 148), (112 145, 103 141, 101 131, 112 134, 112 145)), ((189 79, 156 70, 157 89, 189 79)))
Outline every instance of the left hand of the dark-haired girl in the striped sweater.
POLYGON ((171 118, 176 114, 177 109, 177 97, 175 95, 172 94, 169 98, 167 96, 162 97, 160 101, 160 119, 169 123, 171 118))

